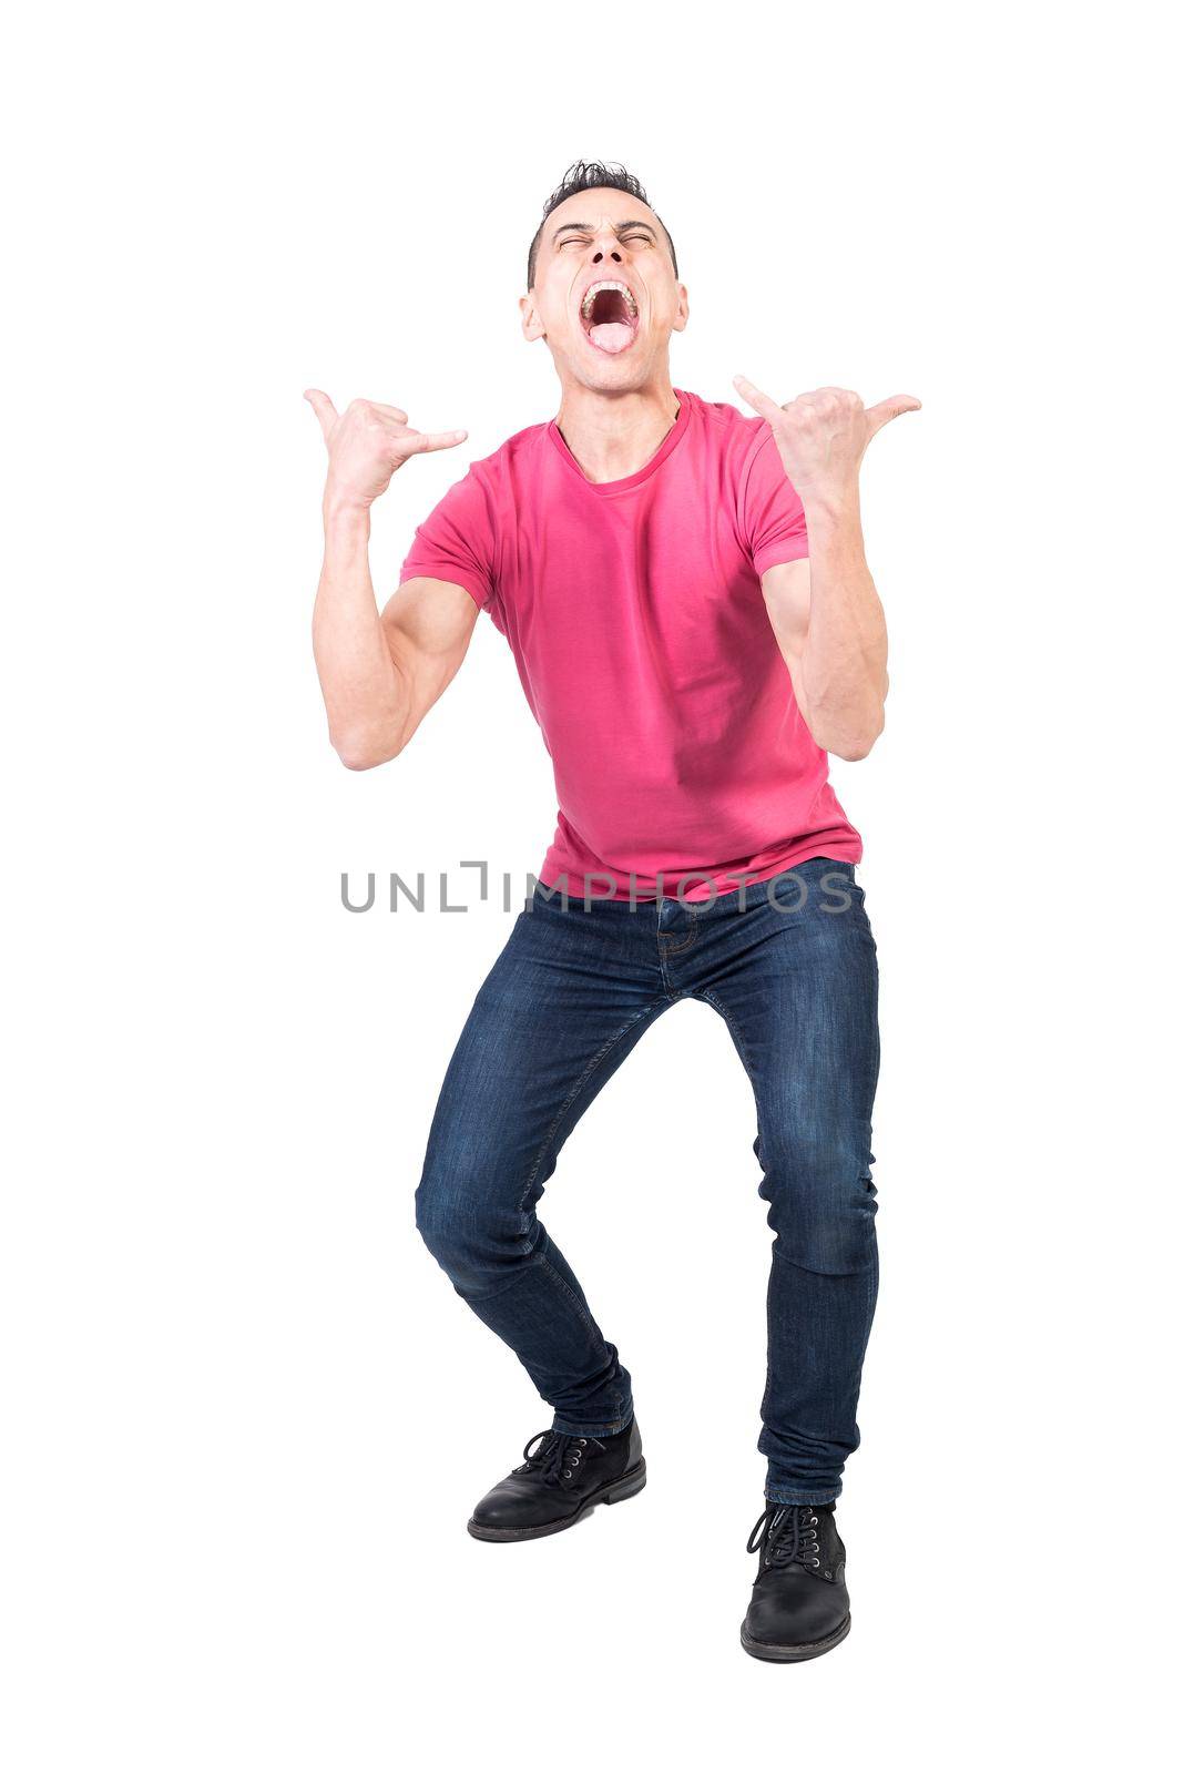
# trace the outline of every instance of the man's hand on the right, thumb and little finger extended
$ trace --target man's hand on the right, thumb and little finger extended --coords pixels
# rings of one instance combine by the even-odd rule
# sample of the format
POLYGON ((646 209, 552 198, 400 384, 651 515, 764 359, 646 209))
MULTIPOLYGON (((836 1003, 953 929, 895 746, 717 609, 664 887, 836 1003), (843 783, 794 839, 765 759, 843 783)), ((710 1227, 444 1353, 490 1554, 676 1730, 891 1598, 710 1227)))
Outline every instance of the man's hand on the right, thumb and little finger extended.
POLYGON ((922 404, 911 394, 893 394, 888 401, 865 406, 851 389, 814 389, 778 406, 748 376, 732 376, 732 383, 769 420, 785 474, 803 506, 842 504, 858 497, 867 445, 890 419, 915 413, 922 404))

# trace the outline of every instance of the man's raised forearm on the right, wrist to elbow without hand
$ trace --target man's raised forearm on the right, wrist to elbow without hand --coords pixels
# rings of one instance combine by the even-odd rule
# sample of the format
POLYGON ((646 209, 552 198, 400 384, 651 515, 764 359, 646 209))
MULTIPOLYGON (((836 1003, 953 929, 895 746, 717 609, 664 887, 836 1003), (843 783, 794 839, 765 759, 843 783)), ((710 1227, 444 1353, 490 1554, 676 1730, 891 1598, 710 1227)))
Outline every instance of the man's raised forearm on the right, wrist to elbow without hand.
POLYGON ((803 502, 810 534, 810 626, 801 688, 810 731, 838 757, 867 757, 884 726, 888 630, 863 555, 858 490, 803 502))

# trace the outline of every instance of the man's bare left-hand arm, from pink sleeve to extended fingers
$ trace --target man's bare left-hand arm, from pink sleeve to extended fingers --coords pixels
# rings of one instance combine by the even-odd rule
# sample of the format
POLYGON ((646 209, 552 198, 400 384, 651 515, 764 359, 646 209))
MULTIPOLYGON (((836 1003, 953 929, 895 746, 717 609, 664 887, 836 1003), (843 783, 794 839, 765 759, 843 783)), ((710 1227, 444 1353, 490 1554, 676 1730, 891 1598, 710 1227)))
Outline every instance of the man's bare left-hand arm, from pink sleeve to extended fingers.
POLYGON ((397 757, 461 669, 477 623, 464 587, 409 578, 379 616, 370 580, 370 506, 408 456, 459 444, 464 431, 425 435, 397 406, 353 401, 337 413, 308 390, 330 452, 324 562, 312 614, 312 649, 330 740, 349 770, 397 757))

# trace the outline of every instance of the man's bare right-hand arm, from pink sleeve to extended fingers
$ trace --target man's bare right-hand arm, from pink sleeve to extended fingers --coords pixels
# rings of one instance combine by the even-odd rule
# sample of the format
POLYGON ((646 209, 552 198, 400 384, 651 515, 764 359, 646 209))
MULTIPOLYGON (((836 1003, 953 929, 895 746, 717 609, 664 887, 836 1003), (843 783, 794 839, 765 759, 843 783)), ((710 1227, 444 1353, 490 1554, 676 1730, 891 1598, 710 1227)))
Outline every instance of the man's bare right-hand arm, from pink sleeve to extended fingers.
POLYGON ((798 708, 824 750, 867 757, 884 727, 888 632, 863 557, 860 463, 881 426, 922 403, 899 394, 865 408, 849 389, 817 389, 778 406, 734 381, 769 420, 806 518, 810 559, 760 575, 798 708))

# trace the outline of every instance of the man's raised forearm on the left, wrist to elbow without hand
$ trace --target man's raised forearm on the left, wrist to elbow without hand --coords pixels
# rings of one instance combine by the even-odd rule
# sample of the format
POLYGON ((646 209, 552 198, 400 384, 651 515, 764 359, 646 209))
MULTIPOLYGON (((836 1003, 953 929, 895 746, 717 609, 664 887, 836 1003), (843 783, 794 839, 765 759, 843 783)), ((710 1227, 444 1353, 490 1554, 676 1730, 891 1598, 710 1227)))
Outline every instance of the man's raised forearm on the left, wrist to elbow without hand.
POLYGON ((312 651, 342 763, 367 768, 399 749, 401 681, 370 580, 370 511, 324 495, 324 562, 312 612, 312 651))

